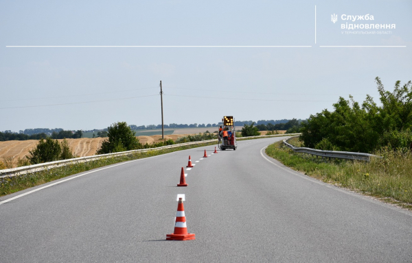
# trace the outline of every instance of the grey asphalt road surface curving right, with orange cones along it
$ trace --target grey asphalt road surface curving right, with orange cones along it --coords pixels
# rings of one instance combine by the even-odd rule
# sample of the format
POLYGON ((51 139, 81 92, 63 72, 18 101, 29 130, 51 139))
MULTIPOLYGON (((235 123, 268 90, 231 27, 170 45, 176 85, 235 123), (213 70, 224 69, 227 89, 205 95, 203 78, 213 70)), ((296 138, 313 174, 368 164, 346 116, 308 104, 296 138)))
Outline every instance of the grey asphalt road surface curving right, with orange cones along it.
POLYGON ((285 168, 264 154, 281 139, 126 162, 2 197, 40 189, 0 205, 0 262, 412 262, 411 212, 285 168), (188 155, 189 186, 176 187, 188 155), (165 240, 177 194, 196 240, 165 240))

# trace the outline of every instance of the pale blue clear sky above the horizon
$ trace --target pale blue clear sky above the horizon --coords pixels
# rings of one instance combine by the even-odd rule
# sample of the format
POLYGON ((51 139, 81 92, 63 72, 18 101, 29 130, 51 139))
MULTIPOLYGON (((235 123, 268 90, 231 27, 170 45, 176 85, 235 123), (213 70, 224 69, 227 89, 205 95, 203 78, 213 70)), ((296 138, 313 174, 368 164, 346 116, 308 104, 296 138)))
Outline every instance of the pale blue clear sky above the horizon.
POLYGON ((0 0, 0 131, 158 125, 160 81, 165 124, 378 102, 376 77, 412 79, 411 13, 409 0, 0 0))

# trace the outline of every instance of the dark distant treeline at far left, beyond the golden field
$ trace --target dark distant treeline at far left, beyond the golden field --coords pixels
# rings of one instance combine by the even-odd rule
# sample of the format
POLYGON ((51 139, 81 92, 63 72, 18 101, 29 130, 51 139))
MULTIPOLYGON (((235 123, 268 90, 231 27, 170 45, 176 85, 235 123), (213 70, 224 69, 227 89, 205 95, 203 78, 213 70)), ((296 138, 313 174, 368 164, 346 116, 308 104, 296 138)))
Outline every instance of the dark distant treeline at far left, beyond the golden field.
POLYGON ((45 139, 47 137, 53 138, 53 139, 69 139, 69 138, 82 138, 83 132, 78 130, 77 132, 71 132, 71 131, 65 131, 63 129, 60 129, 59 132, 52 132, 52 134, 49 136, 45 134, 44 132, 40 134, 32 134, 32 135, 27 135, 27 134, 16 134, 12 133, 10 131, 5 131, 5 132, 0 132, 0 141, 5 141, 5 140, 40 140, 40 139, 45 139))

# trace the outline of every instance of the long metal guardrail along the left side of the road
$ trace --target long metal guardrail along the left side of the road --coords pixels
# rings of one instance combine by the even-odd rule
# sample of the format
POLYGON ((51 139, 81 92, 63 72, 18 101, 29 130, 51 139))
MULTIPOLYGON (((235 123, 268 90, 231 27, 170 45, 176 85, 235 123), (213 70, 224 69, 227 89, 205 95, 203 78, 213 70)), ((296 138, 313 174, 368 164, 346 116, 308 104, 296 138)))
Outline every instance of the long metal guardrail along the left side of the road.
POLYGON ((170 148, 176 148, 176 147, 181 147, 185 145, 201 145, 203 143, 217 142, 217 141, 218 141, 217 139, 213 139, 213 140, 201 140, 198 142, 183 142, 177 145, 166 145, 166 146, 150 148, 150 149, 122 151, 121 153, 106 153, 106 154, 100 154, 100 155, 91 155, 91 156, 84 156, 84 157, 67 159, 67 160, 60 160, 60 161, 55 161, 55 162, 45 162, 43 164, 33 164, 29 166, 21 166, 17 168, 3 169, 3 170, 0 170, 0 178, 16 176, 16 175, 23 175, 25 173, 38 172, 38 171, 45 170, 46 168, 56 168, 60 166, 65 166, 67 164, 73 164, 73 163, 79 163, 79 162, 89 162, 92 160, 98 160, 98 159, 103 159, 103 158, 111 158, 111 157, 117 157, 117 156, 122 156, 122 155, 128 155, 130 153, 138 153, 138 152, 144 153, 146 151, 157 151, 161 149, 170 149, 170 148))

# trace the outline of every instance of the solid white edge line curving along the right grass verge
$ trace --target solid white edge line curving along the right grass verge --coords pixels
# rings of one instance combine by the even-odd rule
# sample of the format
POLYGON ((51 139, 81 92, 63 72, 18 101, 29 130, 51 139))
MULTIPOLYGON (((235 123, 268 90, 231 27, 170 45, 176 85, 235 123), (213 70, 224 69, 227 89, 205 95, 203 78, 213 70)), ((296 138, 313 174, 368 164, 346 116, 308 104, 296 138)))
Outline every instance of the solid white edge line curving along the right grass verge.
POLYGON ((362 200, 365 200, 365 201, 369 201, 369 202, 371 202, 371 203, 375 203, 375 204, 380 205, 380 206, 382 206, 382 207, 384 207, 384 208, 389 208, 389 209, 391 209, 391 210, 401 212, 402 214, 407 214, 408 216, 412 216, 412 212, 409 212, 409 210, 404 210, 404 209, 402 209, 402 208, 398 208, 398 207, 393 206, 393 205, 390 205, 390 204, 388 204, 388 203, 384 203, 384 202, 382 202, 382 201, 379 201, 378 199, 371 199, 371 197, 369 197, 369 196, 367 196, 367 195, 361 195, 361 194, 358 194, 358 193, 356 193, 356 192, 351 192, 350 190, 347 190, 347 189, 345 189, 345 188, 339 188, 339 187, 334 186, 334 185, 332 185, 332 184, 324 183, 323 181, 319 181, 319 180, 317 180, 317 179, 314 179, 314 178, 312 178, 312 177, 309 177, 308 175, 302 175, 301 173, 299 173, 299 172, 297 172, 297 171, 295 171, 295 170, 292 170, 291 168, 282 167, 282 166, 280 166, 279 164, 276 164, 275 162, 272 162, 271 160, 269 160, 268 158, 266 158, 266 156, 264 156, 264 154, 263 154, 262 151, 263 151, 264 149, 266 149, 266 148, 267 148, 267 146, 265 146, 265 147, 263 147, 262 149, 260 149, 260 155, 262 155, 262 157, 263 157, 266 161, 270 162, 271 164, 277 166, 278 168, 281 168, 282 170, 284 170, 284 171, 286 171, 286 172, 288 172, 288 173, 290 173, 290 174, 292 174, 292 175, 297 175, 297 176, 299 176, 299 177, 301 177, 301 178, 304 178, 304 179, 306 179, 306 180, 308 180, 308 181, 311 181, 312 183, 319 184, 319 185, 321 185, 321 186, 325 186, 325 187, 328 187, 328 188, 330 188, 330 189, 333 189, 333 190, 336 190, 336 191, 339 191, 339 192, 343 192, 343 193, 345 193, 346 195, 350 195, 350 196, 352 196, 352 197, 358 197, 359 199, 362 199, 362 200))

